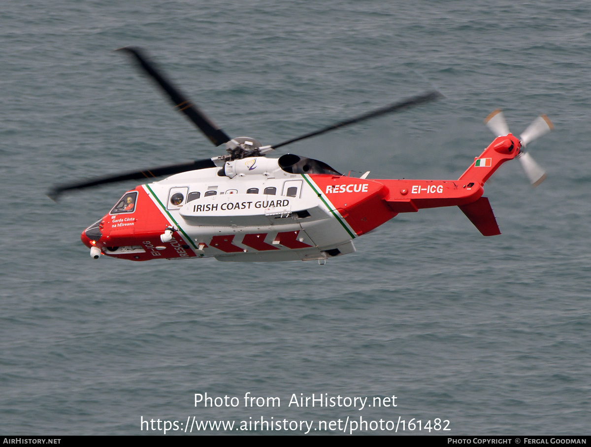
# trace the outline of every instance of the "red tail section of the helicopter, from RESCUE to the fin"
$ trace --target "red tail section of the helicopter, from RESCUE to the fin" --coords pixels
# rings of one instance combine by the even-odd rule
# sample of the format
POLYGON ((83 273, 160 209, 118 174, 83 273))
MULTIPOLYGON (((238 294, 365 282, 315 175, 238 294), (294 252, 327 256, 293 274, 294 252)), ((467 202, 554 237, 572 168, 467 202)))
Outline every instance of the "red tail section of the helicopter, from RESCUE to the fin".
POLYGON ((483 235, 493 236, 501 232, 491 204, 482 197, 482 186, 501 164, 517 157, 520 149, 519 140, 511 134, 495 138, 458 180, 366 180, 326 174, 304 178, 316 183, 320 193, 316 187, 313 189, 319 196, 326 195, 331 208, 357 235, 371 231, 398 213, 459 206, 483 235))

